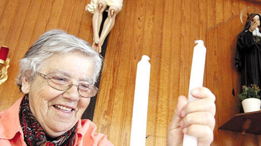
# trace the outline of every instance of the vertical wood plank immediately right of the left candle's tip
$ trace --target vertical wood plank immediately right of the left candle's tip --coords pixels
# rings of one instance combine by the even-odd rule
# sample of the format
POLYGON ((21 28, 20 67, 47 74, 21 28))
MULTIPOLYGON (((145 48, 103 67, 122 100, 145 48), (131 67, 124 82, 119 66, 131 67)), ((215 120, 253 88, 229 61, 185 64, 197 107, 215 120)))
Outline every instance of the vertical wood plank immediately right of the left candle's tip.
MULTIPOLYGON (((152 52, 151 52, 151 74, 150 74, 150 93, 149 93, 149 104, 151 104, 153 111, 149 113, 149 123, 147 126, 151 128, 151 134, 156 136, 157 131, 157 101, 159 95, 159 74, 160 74, 160 60, 162 53, 162 29, 163 29, 163 17, 164 17, 164 4, 161 1, 155 1, 155 12, 153 19, 153 34, 152 34, 152 52), (156 11, 157 10, 157 11, 156 11)), ((147 129, 148 129, 147 128, 147 129)), ((153 139, 153 145, 155 145, 155 138, 153 139)))

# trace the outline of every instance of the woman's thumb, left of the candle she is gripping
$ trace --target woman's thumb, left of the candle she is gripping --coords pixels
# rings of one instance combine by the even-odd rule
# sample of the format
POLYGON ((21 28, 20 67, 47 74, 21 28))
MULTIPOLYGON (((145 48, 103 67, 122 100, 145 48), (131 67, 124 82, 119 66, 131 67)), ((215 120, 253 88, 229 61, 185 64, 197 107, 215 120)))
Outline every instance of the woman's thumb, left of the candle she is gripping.
POLYGON ((188 100, 185 96, 179 96, 178 98, 178 104, 175 110, 175 114, 173 116, 173 118, 171 119, 171 124, 169 129, 175 129, 179 127, 179 122, 181 121, 182 117, 181 115, 181 111, 182 109, 184 109, 184 107, 188 104, 188 100))

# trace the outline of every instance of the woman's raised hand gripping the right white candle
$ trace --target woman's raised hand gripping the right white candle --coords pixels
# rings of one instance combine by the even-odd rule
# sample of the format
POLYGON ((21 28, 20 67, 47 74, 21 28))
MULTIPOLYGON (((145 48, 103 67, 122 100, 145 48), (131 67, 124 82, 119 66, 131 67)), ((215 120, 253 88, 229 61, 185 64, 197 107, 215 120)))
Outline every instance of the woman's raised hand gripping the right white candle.
POLYGON ((175 114, 168 127, 167 145, 182 145, 183 135, 198 138, 198 146, 210 145, 213 141, 216 105, 214 94, 205 87, 191 91, 198 100, 188 103, 185 96, 179 96, 175 114))

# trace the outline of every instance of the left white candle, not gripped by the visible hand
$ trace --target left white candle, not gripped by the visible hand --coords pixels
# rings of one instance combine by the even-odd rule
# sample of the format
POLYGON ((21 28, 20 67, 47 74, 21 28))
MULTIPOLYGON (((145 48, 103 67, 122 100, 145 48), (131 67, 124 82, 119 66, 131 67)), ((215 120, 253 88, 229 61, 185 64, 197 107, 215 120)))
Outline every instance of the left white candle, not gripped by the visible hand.
POLYGON ((145 146, 149 99, 150 58, 143 55, 137 65, 130 146, 145 146))

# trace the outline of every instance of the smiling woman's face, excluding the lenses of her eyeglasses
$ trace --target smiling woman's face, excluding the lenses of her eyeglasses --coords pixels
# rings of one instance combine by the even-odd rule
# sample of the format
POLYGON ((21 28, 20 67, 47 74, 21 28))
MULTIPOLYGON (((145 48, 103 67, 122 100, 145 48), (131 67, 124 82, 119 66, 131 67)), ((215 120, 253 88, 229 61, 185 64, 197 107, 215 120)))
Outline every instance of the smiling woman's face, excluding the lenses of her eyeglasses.
MULTIPOLYGON (((91 58, 72 52, 53 55, 40 66, 39 72, 63 75, 74 83, 90 83, 93 66, 91 58)), ((71 129, 90 103, 90 98, 79 95, 77 86, 66 92, 58 91, 38 75, 31 82, 23 77, 22 91, 29 94, 30 109, 50 137, 58 137, 71 129)))

